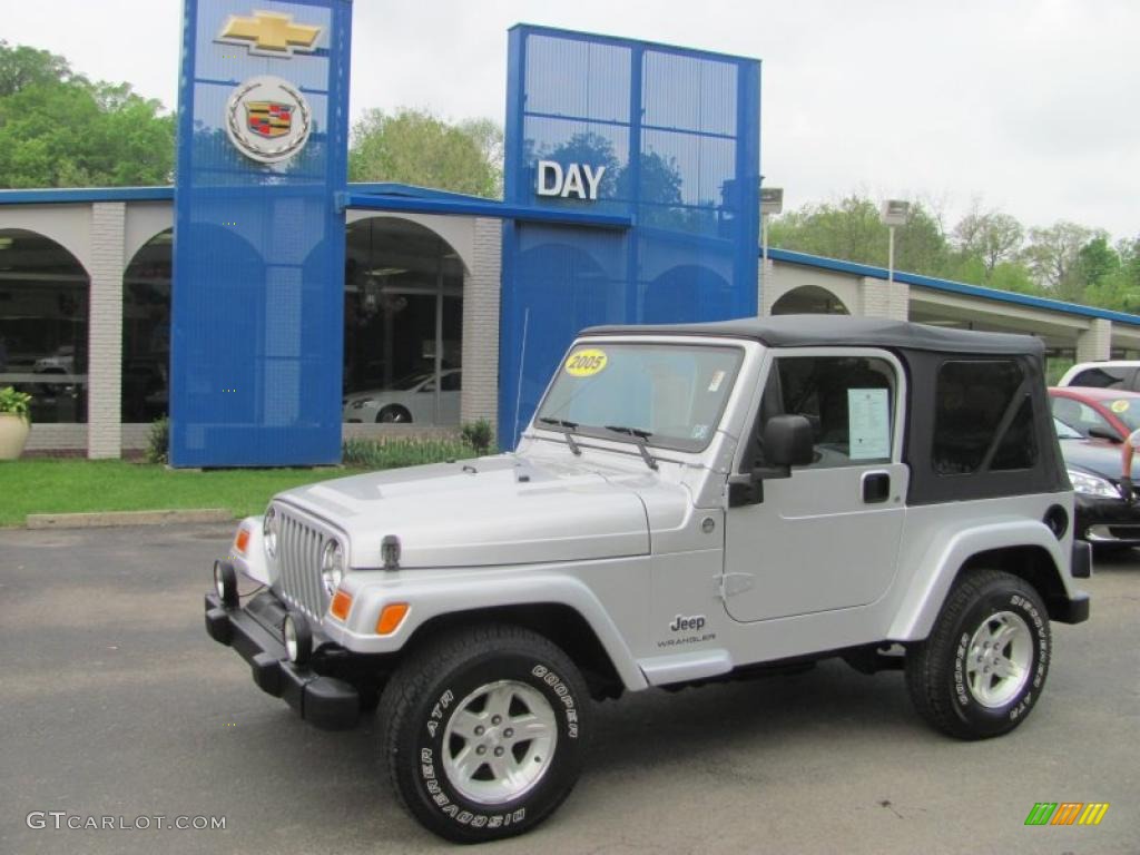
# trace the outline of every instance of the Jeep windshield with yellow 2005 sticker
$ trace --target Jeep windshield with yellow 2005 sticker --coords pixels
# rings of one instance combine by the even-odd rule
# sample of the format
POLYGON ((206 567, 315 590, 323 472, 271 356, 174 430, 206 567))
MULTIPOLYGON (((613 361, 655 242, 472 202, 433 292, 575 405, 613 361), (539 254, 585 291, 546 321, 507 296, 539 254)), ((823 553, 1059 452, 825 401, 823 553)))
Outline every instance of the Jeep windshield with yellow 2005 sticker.
POLYGON ((580 344, 538 408, 544 429, 700 451, 712 439, 743 352, 693 344, 580 344))

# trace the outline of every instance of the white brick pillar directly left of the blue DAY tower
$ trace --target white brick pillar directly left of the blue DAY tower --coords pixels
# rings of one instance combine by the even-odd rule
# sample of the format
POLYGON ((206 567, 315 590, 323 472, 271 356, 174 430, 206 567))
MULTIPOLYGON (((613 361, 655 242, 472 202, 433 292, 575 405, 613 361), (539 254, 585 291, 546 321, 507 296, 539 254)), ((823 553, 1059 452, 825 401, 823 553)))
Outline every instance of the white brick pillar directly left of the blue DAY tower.
POLYGON ((496 423, 498 408, 498 321, 502 292, 503 223, 475 220, 472 269, 463 280, 463 392, 461 418, 496 423))

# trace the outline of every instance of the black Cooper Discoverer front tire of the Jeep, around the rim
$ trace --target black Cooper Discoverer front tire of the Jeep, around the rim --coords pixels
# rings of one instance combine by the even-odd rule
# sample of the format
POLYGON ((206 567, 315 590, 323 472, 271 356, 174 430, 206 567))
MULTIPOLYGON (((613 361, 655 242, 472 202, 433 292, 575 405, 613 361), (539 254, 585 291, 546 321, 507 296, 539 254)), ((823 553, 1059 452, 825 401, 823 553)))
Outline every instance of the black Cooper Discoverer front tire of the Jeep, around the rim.
MULTIPOLYGON (((514 711, 519 709, 516 701, 510 702, 511 720, 514 715, 520 716, 519 720, 527 715, 514 711)), ((490 700, 486 703, 480 715, 491 709, 490 700)), ((521 834, 562 804, 578 780, 589 715, 585 681, 569 657, 544 636, 504 624, 454 630, 413 650, 392 675, 380 703, 383 750, 400 801, 429 831, 464 844, 521 834), (457 714, 470 712, 472 707, 463 705, 472 698, 472 703, 478 705, 479 693, 491 686, 506 686, 507 692, 516 687, 516 694, 523 701, 529 698, 530 706, 540 711, 544 703, 548 705, 546 720, 552 727, 547 730, 555 734, 553 750, 544 751, 545 757, 527 755, 516 760, 526 764, 523 768, 530 768, 529 759, 543 764, 538 779, 518 797, 498 803, 475 800, 461 792, 456 782, 472 787, 474 776, 453 780, 447 765, 454 766, 451 758, 467 747, 464 738, 447 735, 449 728, 459 726, 457 714)), ((489 719, 487 724, 490 730, 489 719)), ((497 733, 504 735, 505 725, 497 733)), ((484 751, 492 744, 483 746, 484 751)), ((536 754, 530 744, 523 742, 506 750, 536 754)), ((490 759, 489 754, 486 756, 490 759)), ((480 767, 479 774, 494 779, 495 771, 480 767)))

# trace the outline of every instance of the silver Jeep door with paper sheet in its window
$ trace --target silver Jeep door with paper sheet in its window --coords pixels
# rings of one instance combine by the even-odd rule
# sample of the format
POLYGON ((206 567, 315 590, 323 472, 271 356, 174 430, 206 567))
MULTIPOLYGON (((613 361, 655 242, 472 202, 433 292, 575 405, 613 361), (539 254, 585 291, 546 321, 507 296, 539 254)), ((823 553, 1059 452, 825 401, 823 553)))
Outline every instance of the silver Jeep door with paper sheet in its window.
POLYGON ((760 503, 728 508, 724 588, 733 619, 849 609, 890 586, 909 475, 904 384, 886 351, 775 351, 741 469, 765 464, 755 437, 780 414, 812 423, 814 461, 765 480, 760 503))

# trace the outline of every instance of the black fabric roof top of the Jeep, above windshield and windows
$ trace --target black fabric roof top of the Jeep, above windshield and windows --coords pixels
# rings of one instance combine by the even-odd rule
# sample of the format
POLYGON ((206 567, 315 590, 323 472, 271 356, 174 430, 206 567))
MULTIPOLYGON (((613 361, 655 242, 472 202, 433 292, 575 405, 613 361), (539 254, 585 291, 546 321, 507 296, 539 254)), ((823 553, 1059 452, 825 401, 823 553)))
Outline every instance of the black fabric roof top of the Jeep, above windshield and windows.
POLYGON ((769 348, 866 345, 951 353, 1009 353, 1043 357, 1045 345, 1032 335, 979 333, 928 324, 846 315, 779 315, 711 324, 593 326, 583 335, 711 335, 750 339, 769 348))

